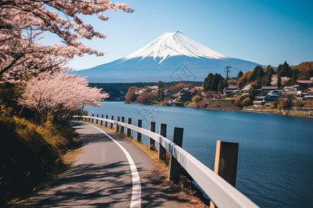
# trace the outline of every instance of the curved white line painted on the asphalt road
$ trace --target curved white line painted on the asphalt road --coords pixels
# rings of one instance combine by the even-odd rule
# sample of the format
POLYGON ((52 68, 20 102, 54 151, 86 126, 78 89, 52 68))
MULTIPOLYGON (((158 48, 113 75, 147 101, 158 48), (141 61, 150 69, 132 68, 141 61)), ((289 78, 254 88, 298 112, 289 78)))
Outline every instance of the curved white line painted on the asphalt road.
MULTIPOLYGON (((90 123, 87 123, 88 125, 91 125, 90 123)), ((91 125, 94 128, 97 128, 95 125, 91 125)), ((110 135, 108 135, 106 132, 104 132, 103 130, 97 128, 97 130, 99 130, 100 132, 104 133, 104 135, 106 135, 107 137, 109 137, 110 139, 112 139, 112 141, 115 142, 115 144, 117 144, 122 151, 125 153, 128 163, 129 163, 129 167, 131 169, 131 177, 132 177, 132 181, 133 181, 133 190, 131 192, 131 205, 129 207, 133 208, 133 207, 141 207, 141 178, 139 177, 137 168, 136 168, 136 164, 134 163, 134 160, 131 158, 131 155, 129 155, 129 153, 127 152, 127 150, 120 145, 120 143, 118 143, 118 141, 116 141, 115 139, 113 139, 110 135)))

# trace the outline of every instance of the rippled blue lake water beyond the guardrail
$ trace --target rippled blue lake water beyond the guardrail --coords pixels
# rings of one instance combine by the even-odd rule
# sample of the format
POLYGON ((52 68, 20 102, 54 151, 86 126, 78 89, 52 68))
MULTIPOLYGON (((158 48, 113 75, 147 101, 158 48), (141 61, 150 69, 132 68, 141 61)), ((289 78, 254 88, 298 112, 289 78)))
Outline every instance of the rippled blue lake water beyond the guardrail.
MULTIPOLYGON (((313 207, 313 120, 272 114, 102 102, 89 113, 184 128, 183 148, 214 168, 216 140, 239 143, 236 189, 260 207, 313 207)), ((148 138, 143 137, 147 144, 148 138)))

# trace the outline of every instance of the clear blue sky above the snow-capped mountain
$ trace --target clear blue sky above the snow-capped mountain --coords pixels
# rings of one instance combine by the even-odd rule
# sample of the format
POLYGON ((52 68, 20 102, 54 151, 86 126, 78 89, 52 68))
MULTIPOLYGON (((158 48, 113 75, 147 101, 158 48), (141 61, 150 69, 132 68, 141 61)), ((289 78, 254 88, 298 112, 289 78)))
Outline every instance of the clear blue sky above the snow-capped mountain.
POLYGON ((210 49, 259 64, 313 61, 313 1, 120 2, 135 12, 106 12, 109 21, 83 18, 95 31, 108 35, 104 40, 84 41, 105 55, 75 57, 71 67, 88 69, 122 58, 170 31, 181 31, 210 49))

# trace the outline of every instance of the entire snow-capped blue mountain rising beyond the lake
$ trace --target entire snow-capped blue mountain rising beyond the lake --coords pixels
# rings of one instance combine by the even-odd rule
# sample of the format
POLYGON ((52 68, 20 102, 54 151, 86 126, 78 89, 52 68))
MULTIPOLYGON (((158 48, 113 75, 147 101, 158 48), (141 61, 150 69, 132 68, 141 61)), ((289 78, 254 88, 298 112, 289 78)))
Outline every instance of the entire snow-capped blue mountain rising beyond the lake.
POLYGON ((250 71, 257 65, 218 53, 175 31, 164 33, 124 58, 74 73, 87 76, 91 83, 202 81, 208 73, 223 76, 225 67, 236 76, 239 70, 250 71))

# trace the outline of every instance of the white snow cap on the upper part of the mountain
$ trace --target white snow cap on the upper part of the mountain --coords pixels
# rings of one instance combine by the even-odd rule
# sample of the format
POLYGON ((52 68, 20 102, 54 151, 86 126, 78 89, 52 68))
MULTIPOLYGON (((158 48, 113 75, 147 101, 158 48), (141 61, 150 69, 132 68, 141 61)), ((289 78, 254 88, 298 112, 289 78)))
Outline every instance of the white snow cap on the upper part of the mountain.
POLYGON ((183 33, 175 31, 164 33, 156 40, 150 42, 150 44, 127 55, 122 62, 133 58, 141 58, 142 60, 147 57, 153 57, 154 60, 161 64, 166 58, 175 55, 186 55, 193 58, 229 58, 227 55, 211 50, 207 46, 191 40, 183 33))

